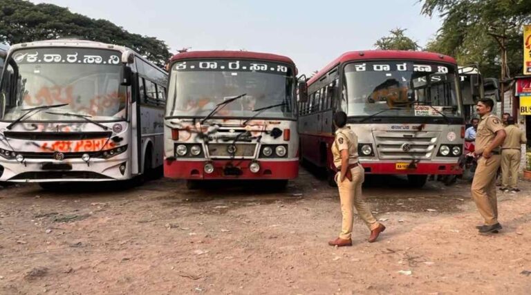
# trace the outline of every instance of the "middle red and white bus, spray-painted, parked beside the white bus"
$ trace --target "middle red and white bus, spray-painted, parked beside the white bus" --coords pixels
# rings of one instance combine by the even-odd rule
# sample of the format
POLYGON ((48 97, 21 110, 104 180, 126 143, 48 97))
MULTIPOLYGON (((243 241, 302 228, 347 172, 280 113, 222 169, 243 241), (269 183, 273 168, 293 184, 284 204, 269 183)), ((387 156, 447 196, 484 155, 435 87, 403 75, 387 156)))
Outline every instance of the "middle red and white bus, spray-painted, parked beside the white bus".
POLYGON ((191 188, 223 179, 285 186, 297 177, 297 69, 290 58, 195 51, 172 57, 169 72, 166 177, 191 188))

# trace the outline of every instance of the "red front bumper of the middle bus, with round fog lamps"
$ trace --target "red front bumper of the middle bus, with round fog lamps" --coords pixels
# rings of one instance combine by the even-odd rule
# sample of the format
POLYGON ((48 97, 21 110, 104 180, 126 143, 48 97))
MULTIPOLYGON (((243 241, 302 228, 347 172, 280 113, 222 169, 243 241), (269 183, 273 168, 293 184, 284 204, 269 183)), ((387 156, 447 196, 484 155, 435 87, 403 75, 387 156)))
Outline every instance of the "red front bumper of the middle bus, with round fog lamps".
POLYGON ((297 178, 299 160, 252 161, 252 160, 213 160, 182 161, 164 160, 164 175, 167 178, 187 180, 289 180, 297 178), (258 162, 260 169, 252 173, 249 165, 258 162), (212 173, 205 172, 205 164, 214 165, 212 173))

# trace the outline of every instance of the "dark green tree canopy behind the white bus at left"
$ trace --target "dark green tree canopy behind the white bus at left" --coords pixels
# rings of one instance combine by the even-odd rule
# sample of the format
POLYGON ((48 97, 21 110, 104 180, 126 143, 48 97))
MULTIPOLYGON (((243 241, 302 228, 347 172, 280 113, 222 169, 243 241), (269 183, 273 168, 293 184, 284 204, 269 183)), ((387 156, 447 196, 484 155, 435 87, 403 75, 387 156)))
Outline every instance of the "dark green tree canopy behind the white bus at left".
POLYGON ((0 0, 0 42, 77 38, 127 46, 163 67, 171 53, 164 41, 132 34, 111 21, 91 19, 53 4, 0 0))

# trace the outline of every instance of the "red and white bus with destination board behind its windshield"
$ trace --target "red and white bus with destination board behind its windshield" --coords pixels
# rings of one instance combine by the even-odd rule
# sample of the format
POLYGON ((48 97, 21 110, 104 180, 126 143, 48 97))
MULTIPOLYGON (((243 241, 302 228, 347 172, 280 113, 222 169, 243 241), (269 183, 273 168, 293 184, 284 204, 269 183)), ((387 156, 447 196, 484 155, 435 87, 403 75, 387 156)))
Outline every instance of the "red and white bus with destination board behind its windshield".
POLYGON ((301 157, 335 168, 333 114, 344 111, 359 139, 368 174, 406 174, 422 187, 427 175, 462 173, 464 117, 456 61, 426 52, 344 53, 299 89, 301 157))

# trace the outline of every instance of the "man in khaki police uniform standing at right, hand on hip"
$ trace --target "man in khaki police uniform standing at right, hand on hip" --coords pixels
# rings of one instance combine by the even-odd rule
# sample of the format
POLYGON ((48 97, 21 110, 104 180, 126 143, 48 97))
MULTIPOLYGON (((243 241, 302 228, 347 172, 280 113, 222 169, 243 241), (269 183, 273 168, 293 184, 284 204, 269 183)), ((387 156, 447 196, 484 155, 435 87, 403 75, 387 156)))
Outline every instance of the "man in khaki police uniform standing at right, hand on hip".
POLYGON ((481 99, 476 105, 481 121, 476 133, 475 153, 478 157, 478 168, 472 181, 472 198, 485 220, 484 225, 476 227, 480 233, 497 232, 501 229, 496 200, 496 170, 501 162, 499 146, 505 140, 505 130, 499 117, 491 113, 493 106, 491 99, 481 99))

